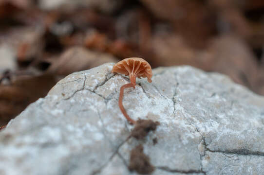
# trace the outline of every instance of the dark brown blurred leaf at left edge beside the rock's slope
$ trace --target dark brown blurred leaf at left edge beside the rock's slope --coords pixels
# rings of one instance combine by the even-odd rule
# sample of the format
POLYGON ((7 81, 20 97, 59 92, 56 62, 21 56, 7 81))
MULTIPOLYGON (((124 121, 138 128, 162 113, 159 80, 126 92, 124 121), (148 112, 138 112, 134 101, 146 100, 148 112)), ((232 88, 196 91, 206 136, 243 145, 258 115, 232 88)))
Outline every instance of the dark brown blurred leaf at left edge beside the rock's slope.
POLYGON ((11 85, 0 85, 0 125, 17 116, 25 107, 44 97, 56 84, 52 75, 17 77, 11 85))

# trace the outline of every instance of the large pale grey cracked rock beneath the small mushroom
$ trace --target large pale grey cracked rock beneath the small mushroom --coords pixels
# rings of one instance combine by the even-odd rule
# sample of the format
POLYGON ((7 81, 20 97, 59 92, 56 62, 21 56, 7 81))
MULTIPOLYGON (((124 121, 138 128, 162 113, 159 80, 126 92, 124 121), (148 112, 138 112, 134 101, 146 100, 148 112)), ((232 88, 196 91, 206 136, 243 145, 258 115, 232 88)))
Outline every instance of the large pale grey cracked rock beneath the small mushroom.
POLYGON ((136 140, 118 107, 128 78, 112 67, 68 75, 12 120, 0 132, 0 174, 130 175, 139 144, 152 175, 264 174, 264 97, 218 73, 157 68, 152 83, 125 90, 132 119, 160 123, 136 140))

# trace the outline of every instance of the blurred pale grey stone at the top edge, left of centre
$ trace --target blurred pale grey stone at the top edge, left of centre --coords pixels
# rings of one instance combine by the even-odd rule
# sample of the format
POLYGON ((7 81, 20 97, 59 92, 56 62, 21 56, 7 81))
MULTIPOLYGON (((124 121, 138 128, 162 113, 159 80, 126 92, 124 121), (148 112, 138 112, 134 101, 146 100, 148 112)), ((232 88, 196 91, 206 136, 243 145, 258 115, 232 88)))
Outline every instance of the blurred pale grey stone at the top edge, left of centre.
POLYGON ((90 7, 105 13, 113 12, 120 6, 121 0, 38 0, 38 6, 43 10, 56 8, 76 9, 90 7))

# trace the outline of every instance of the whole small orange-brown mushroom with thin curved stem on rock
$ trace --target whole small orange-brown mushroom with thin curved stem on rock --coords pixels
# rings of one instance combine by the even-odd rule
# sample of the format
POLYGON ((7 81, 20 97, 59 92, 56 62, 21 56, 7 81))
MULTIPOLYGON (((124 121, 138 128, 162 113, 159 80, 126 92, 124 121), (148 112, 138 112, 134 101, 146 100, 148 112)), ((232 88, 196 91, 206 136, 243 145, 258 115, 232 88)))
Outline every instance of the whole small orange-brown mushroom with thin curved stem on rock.
POLYGON ((118 105, 119 105, 121 112, 126 117, 126 119, 129 121, 129 123, 134 124, 136 122, 128 116, 128 114, 127 114, 127 112, 126 112, 126 110, 122 104, 124 89, 125 88, 131 88, 131 87, 135 88, 136 77, 138 77, 138 78, 147 77, 148 82, 151 83, 152 82, 151 81, 151 77, 152 77, 151 65, 142 58, 136 58, 136 57, 126 58, 126 59, 123 59, 122 61, 119 61, 118 63, 116 63, 113 66, 112 72, 125 74, 126 76, 129 75, 129 79, 130 79, 131 83, 125 84, 120 88, 118 105))

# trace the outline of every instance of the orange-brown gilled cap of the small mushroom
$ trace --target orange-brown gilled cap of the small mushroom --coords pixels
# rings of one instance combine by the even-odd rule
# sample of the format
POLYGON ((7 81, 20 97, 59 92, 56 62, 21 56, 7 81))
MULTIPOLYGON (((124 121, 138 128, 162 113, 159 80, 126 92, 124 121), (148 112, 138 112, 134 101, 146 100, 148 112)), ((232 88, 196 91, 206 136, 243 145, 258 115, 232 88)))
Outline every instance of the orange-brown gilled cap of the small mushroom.
POLYGON ((125 75, 134 75, 138 78, 148 78, 148 82, 151 83, 152 70, 151 65, 142 58, 132 57, 126 58, 122 61, 119 61, 113 66, 112 72, 125 74, 125 75))

